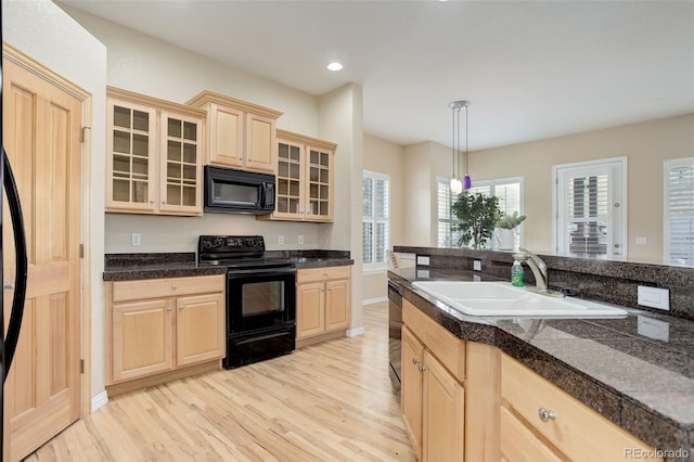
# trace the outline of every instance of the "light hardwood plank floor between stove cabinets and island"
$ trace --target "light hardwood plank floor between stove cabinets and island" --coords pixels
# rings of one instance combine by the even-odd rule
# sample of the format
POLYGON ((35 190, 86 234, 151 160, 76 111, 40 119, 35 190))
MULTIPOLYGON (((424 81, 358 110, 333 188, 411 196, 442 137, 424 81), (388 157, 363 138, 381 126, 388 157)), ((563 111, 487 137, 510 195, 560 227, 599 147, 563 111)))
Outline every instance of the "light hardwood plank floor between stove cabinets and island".
POLYGON ((118 396, 26 460, 413 461, 387 310, 364 307, 364 335, 118 396))

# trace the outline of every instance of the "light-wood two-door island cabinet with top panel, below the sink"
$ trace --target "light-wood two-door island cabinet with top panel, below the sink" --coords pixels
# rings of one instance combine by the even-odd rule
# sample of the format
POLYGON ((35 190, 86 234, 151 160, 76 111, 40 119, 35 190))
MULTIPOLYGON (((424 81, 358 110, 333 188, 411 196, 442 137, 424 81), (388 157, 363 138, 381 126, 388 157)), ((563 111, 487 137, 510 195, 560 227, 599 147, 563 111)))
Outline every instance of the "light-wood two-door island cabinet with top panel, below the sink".
POLYGON ((401 407, 417 458, 462 461, 465 343, 403 300, 401 407))

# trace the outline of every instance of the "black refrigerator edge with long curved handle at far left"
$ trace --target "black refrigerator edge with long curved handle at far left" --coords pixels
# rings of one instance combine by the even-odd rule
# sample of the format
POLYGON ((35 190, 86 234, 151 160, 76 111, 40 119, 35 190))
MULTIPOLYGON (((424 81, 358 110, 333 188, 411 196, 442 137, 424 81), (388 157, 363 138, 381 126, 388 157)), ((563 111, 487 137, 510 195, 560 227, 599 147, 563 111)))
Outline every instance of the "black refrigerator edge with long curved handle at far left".
MULTIPOLYGON (((2 17, 2 2, 0 2, 0 17, 2 17)), ((2 43, 1 21, 0 43, 2 43)), ((2 64, 0 61, 0 108, 3 107, 2 82, 2 64)), ((14 290, 14 294, 12 297, 12 310, 10 311, 10 320, 7 324, 7 331, 4 330, 4 296, 0 297, 0 375, 2 376, 2 382, 0 382, 0 459, 2 459, 2 454, 4 453, 4 381, 8 376, 8 372, 10 371, 14 350, 20 337, 20 328, 22 326, 22 315, 24 311, 24 297, 26 295, 27 272, 26 241, 24 236, 24 223, 22 220, 22 206, 20 204, 20 195, 14 182, 14 177, 12 175, 12 168, 10 167, 10 162, 8 161, 4 152, 4 138, 2 131, 4 119, 2 113, 3 111, 0 111, 0 140, 2 141, 2 147, 0 149, 0 182, 2 182, 5 194, 0 194, 0 279, 2 280, 3 294, 7 290, 14 290), (3 211, 5 207, 10 211, 11 222, 3 222, 3 211), (12 228, 14 248, 5 248, 5 243, 2 242, 3 227, 12 228), (14 274, 3 273, 3 261, 7 254, 14 255, 16 268, 14 274)))

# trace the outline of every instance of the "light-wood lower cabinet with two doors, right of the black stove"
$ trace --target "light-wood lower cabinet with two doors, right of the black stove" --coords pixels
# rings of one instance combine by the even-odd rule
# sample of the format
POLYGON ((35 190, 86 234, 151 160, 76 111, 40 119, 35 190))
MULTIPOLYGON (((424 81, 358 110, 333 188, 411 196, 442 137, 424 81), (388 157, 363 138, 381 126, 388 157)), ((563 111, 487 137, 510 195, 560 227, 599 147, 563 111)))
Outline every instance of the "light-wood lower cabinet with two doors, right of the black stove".
POLYGON ((296 338, 345 331, 351 317, 351 267, 296 272, 296 338))

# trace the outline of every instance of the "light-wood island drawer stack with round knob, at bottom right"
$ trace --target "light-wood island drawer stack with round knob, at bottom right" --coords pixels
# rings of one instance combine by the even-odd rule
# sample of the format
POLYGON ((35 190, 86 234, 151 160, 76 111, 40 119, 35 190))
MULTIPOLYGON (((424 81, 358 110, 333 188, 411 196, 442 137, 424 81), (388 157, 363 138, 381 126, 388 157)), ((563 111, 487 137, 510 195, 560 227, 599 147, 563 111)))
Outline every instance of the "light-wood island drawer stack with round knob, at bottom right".
POLYGON ((502 354, 502 460, 616 461, 632 459, 629 453, 637 451, 639 459, 655 454, 654 448, 502 354))

